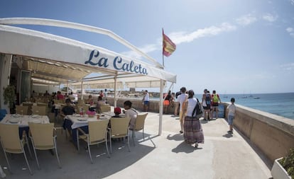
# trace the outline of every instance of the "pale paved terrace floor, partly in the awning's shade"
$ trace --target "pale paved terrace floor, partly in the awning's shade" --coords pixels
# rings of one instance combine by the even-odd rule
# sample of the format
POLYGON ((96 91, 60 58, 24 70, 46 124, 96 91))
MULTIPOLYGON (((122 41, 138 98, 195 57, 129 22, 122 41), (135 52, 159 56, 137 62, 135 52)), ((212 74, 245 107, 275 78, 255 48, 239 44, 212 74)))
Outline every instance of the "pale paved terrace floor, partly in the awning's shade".
MULTIPOLYGON (((50 113, 53 119, 53 113, 50 113)), ((111 158, 107 158, 104 144, 92 146, 94 163, 91 164, 81 142, 77 152, 65 133, 58 131, 58 153, 62 168, 49 151, 37 151, 40 170, 35 159, 29 159, 33 175, 26 170, 22 154, 9 157, 12 173, 6 166, 3 151, 0 164, 6 178, 271 178, 271 166, 236 131, 227 134, 224 119, 206 122, 201 120, 205 144, 199 149, 185 144, 179 134, 179 120, 173 115, 163 115, 163 133, 158 136, 158 113, 148 112, 145 125, 146 140, 136 133, 136 146, 131 142, 131 152, 123 142, 113 142, 111 158)))

